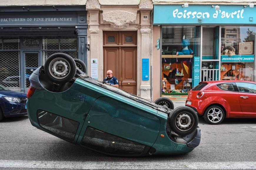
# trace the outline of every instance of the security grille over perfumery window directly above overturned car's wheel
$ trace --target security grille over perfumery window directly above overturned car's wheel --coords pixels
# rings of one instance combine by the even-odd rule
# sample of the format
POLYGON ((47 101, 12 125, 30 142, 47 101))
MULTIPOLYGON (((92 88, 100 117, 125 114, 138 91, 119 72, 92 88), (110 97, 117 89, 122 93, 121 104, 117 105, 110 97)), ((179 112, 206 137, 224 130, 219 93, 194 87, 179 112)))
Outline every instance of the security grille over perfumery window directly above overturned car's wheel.
POLYGON ((44 37, 42 40, 43 64, 47 58, 57 52, 63 52, 77 58, 77 37, 44 37))

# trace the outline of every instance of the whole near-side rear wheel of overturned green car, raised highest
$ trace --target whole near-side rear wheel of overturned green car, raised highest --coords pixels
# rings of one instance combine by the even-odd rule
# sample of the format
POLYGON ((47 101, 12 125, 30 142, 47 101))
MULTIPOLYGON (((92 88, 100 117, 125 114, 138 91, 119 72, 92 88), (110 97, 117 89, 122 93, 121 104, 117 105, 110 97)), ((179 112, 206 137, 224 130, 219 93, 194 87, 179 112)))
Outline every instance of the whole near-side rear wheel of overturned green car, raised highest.
POLYGON ((44 64, 45 74, 52 82, 57 84, 64 84, 72 80, 76 71, 77 66, 74 59, 64 53, 51 55, 44 64))

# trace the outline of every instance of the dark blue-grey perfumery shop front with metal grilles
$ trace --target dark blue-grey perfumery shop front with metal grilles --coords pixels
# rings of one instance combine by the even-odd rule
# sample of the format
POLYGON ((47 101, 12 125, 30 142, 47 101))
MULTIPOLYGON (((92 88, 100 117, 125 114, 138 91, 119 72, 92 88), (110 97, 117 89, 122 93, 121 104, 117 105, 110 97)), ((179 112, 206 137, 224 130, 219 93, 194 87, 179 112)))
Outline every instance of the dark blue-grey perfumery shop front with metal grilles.
POLYGON ((0 11, 2 86, 26 92, 30 74, 56 52, 87 61, 85 5, 9 6, 0 11))

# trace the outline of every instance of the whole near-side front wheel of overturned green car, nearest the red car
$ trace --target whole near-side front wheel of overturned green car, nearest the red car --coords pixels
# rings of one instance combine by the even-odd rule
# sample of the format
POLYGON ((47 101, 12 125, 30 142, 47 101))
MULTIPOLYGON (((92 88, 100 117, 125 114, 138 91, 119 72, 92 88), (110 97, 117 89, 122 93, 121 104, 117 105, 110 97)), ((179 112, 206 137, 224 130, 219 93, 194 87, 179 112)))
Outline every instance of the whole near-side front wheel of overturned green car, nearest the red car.
POLYGON ((189 135, 198 125, 197 113, 187 106, 179 106, 169 115, 169 126, 178 135, 189 135))

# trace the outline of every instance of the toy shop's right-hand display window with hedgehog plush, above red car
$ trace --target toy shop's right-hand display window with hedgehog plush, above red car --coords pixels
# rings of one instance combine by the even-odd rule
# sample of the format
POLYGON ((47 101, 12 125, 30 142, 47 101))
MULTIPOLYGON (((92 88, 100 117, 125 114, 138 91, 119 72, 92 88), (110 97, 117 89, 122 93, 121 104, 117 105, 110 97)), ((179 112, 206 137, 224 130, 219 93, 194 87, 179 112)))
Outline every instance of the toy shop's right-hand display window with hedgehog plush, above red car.
POLYGON ((255 81, 255 33, 253 26, 222 27, 221 80, 255 81))

